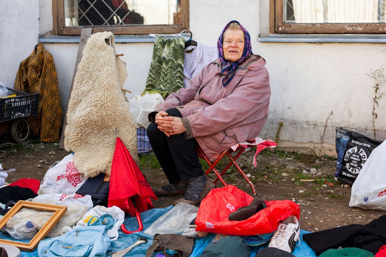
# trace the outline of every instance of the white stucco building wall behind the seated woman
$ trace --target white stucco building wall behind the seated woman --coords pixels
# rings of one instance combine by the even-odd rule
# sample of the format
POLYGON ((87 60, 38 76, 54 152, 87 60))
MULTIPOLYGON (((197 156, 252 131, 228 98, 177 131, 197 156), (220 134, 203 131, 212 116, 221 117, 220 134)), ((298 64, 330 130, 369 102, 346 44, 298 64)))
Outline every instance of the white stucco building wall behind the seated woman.
MULTIPOLYGON (((52 6, 50 0, 0 0, 0 3, 5 6, 0 9, 0 15, 7 18, 0 20, 2 34, 6 35, 0 39, 0 57, 7 63, 0 68, 0 81, 13 85, 18 65, 32 51, 37 34, 52 29, 52 6), (5 44, 5 38, 13 44, 5 44)), ((215 46, 223 26, 229 20, 239 20, 251 34, 253 52, 266 59, 272 95, 270 116, 261 137, 274 137, 278 122, 283 121, 279 145, 311 153, 312 148, 320 148, 326 119, 331 112, 323 154, 335 154, 335 127, 342 126, 372 137, 374 91, 373 81, 366 73, 385 63, 384 45, 258 42, 258 35, 268 32, 268 13, 268 0, 190 0, 190 29, 194 40, 215 46)), ((44 43, 44 46, 54 56, 65 109, 78 44, 44 43)), ((127 63, 128 78, 124 87, 133 91, 132 96, 144 89, 152 48, 152 43, 116 46, 118 53, 125 54, 122 60, 127 63)), ((383 91, 386 92, 386 86, 383 91)), ((376 120, 379 140, 386 138, 385 109, 383 98, 379 101, 376 120)))

